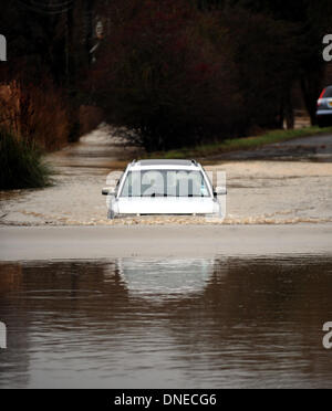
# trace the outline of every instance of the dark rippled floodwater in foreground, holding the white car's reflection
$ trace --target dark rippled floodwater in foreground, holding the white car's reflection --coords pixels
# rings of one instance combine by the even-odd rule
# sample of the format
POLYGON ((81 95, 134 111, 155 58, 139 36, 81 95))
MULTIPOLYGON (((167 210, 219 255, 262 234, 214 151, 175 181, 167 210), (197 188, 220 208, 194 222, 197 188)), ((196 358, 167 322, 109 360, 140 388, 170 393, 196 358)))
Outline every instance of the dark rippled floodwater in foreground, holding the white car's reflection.
POLYGON ((0 271, 0 388, 332 387, 332 255, 0 271))

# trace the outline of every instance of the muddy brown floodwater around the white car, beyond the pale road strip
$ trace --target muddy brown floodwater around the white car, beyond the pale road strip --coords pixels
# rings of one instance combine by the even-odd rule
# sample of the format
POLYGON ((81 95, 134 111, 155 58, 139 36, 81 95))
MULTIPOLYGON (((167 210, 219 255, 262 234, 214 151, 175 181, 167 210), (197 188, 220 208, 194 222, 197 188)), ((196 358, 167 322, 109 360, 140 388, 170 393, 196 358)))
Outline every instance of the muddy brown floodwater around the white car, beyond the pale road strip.
MULTIPOLYGON (((97 128, 48 157, 54 170, 53 187, 0 192, 0 224, 206 224, 206 219, 199 218, 106 219, 106 199, 101 190, 107 175, 123 170, 137 155, 110 127, 97 128)), ((332 136, 231 156, 206 167, 226 171, 227 215, 222 224, 332 222, 332 136)))

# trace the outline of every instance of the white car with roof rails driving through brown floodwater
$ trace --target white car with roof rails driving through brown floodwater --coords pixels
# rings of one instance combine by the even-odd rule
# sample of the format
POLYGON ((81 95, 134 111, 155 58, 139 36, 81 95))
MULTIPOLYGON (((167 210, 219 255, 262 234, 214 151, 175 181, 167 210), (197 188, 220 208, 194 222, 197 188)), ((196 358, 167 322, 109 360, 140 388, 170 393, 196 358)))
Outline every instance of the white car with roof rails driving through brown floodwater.
POLYGON ((222 217, 218 194, 195 160, 139 160, 131 162, 115 188, 104 188, 108 219, 117 215, 203 214, 222 217))

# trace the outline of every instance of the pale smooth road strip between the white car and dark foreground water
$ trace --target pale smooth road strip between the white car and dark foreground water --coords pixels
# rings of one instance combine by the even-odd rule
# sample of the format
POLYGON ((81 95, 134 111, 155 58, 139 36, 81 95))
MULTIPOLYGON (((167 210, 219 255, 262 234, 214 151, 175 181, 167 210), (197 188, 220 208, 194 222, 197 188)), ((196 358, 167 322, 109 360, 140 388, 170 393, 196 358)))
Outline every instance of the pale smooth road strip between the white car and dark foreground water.
POLYGON ((0 261, 330 254, 332 224, 10 226, 0 261))

